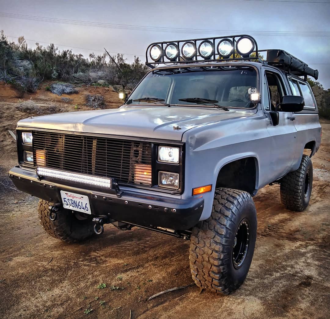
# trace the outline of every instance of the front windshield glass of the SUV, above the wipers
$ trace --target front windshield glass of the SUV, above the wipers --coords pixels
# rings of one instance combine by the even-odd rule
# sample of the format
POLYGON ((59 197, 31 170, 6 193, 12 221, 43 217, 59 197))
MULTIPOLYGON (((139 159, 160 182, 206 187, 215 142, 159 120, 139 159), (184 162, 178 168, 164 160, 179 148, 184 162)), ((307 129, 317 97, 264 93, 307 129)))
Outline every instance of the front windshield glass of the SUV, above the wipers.
POLYGON ((248 89, 257 87, 257 72, 249 66, 187 67, 150 72, 130 95, 126 104, 159 104, 163 99, 170 105, 207 105, 202 101, 182 101, 200 98, 217 101, 225 107, 249 108, 248 89))

